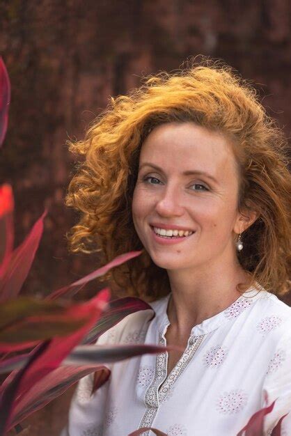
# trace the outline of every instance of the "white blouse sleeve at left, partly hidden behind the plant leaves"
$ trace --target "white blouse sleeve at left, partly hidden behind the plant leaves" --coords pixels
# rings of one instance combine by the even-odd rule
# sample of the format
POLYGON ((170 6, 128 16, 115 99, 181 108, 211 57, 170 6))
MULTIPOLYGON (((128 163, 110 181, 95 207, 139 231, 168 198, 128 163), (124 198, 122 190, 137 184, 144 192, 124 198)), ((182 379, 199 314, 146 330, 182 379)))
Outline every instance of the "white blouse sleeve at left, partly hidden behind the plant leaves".
MULTIPOLYGON (((113 329, 109 329, 102 334, 96 342, 97 345, 109 343, 113 329)), ((79 380, 70 404, 68 423, 61 431, 60 436, 102 435, 104 408, 109 384, 107 380, 91 396, 93 377, 94 373, 91 373, 79 380)))

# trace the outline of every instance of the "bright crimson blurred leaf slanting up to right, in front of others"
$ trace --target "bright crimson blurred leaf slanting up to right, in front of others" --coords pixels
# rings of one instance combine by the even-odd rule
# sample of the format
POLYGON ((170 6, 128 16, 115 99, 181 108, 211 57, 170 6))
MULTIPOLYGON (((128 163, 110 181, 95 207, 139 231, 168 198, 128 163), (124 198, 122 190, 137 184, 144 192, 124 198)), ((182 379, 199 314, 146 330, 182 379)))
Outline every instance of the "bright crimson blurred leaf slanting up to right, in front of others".
MULTIPOLYGON (((22 396, 26 394, 26 392, 29 391, 34 384, 41 380, 42 377, 45 377, 45 375, 48 373, 58 368, 63 359, 70 354, 72 349, 81 341, 88 330, 95 324, 97 318, 100 316, 100 313, 104 310, 104 306, 106 306, 109 296, 109 289, 105 288, 101 290, 96 297, 93 297, 88 302, 79 304, 77 309, 74 306, 70 308, 71 315, 75 312, 79 316, 87 316, 88 321, 81 327, 81 329, 77 330, 77 332, 74 332, 73 334, 70 334, 70 336, 66 336, 64 338, 53 338, 52 341, 50 341, 47 350, 45 350, 45 352, 43 352, 42 355, 40 355, 40 357, 33 362, 33 365, 22 377, 14 407, 16 407, 22 396)), ((6 377, 6 380, 4 380, 0 387, 0 394, 8 387, 10 382, 12 382, 17 372, 18 371, 13 371, 10 373, 10 375, 8 375, 8 377, 6 377)))

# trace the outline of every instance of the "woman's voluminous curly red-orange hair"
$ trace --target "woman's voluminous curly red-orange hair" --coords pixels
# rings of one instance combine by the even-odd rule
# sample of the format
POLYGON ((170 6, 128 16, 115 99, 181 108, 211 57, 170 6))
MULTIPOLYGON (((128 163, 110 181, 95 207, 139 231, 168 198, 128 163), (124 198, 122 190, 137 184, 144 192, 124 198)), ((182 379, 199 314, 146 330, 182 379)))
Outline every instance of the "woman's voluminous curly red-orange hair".
MULTIPOLYGON (((85 157, 66 197, 66 204, 81 212, 67 234, 70 251, 97 251, 103 264, 143 249, 131 211, 141 145, 156 125, 189 120, 223 132, 233 143, 240 173, 239 210, 258 212, 244 232, 239 262, 251 284, 285 295, 290 289, 288 141, 251 83, 222 61, 191 59, 173 73, 143 77, 139 88, 111 98, 83 140, 68 141, 72 153, 85 157)), ((108 279, 126 295, 148 301, 171 290, 166 270, 144 249, 102 280, 108 279)), ((241 285, 241 290, 249 286, 241 285)))

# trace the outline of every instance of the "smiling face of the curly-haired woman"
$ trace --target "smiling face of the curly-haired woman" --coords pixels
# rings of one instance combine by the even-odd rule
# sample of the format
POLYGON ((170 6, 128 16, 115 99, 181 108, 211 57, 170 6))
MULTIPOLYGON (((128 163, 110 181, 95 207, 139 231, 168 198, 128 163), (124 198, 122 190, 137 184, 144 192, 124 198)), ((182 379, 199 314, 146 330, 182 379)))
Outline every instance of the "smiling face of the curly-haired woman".
POLYGON ((233 150, 222 134, 194 123, 155 127, 141 148, 132 201, 136 233, 153 262, 176 270, 235 254, 238 189, 233 150), (175 226, 193 233, 170 239, 153 229, 175 226))

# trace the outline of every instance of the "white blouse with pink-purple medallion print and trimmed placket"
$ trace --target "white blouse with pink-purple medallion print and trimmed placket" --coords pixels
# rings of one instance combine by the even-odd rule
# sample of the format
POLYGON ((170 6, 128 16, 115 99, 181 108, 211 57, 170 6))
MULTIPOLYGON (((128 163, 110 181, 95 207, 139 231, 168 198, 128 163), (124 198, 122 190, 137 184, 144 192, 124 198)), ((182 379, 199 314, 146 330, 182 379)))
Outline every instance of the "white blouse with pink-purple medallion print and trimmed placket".
MULTIPOLYGON (((265 417, 264 436, 271 435, 291 411, 291 308, 261 289, 195 325, 168 377, 168 353, 108 364, 111 376, 93 396, 93 375, 84 377, 61 436, 127 436, 143 427, 168 436, 235 436, 276 400, 265 417)), ((150 309, 132 313, 97 344, 166 345, 170 295, 150 303, 155 318, 150 309)), ((281 436, 291 436, 291 412, 281 436)))

